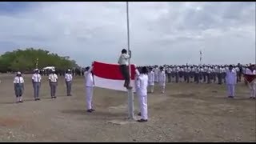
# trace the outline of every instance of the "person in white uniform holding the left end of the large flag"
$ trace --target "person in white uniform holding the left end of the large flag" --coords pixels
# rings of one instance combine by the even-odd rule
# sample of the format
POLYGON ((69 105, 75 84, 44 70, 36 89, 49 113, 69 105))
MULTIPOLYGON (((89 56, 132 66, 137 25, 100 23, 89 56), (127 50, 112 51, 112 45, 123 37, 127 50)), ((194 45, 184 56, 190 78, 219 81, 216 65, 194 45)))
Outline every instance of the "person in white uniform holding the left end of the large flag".
POLYGON ((87 112, 91 113, 94 111, 92 108, 92 99, 94 95, 94 77, 92 74, 93 65, 91 67, 86 67, 85 81, 86 81, 86 106, 87 112))

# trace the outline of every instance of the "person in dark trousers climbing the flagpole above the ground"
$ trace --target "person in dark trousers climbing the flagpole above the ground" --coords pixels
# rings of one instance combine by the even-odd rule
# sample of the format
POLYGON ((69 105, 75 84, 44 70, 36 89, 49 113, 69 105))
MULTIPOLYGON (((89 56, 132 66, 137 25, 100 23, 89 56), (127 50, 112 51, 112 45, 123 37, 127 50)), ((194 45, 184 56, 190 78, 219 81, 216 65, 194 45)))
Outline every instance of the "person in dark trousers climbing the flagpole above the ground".
POLYGON ((131 58, 131 51, 129 51, 129 54, 127 54, 126 49, 122 49, 121 55, 118 59, 118 64, 120 65, 120 70, 122 73, 122 77, 125 78, 125 83, 123 86, 125 86, 127 89, 131 89, 130 86, 130 72, 129 72, 129 66, 128 61, 131 58))

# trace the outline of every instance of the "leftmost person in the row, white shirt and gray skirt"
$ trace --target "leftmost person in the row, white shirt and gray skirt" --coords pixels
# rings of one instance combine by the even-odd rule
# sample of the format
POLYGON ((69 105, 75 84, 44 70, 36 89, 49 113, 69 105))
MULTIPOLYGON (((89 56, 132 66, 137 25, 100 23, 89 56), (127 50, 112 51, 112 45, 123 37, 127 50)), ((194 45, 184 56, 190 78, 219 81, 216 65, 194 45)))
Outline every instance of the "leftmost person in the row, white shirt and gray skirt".
POLYGON ((24 92, 24 78, 22 78, 22 73, 19 71, 14 78, 14 91, 17 98, 16 103, 23 102, 22 94, 24 92))

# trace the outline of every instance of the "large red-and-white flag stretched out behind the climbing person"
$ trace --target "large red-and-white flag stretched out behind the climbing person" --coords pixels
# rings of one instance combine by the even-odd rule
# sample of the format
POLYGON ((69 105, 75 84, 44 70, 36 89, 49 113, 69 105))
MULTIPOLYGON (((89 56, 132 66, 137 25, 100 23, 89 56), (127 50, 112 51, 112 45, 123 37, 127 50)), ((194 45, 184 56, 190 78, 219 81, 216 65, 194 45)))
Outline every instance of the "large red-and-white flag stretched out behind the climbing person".
MULTIPOLYGON (((132 86, 133 90, 135 90, 134 89, 134 86, 135 86, 135 83, 134 83, 135 66, 134 65, 130 65, 130 71, 131 71, 130 86, 132 86)), ((106 88, 110 90, 127 91, 126 87, 123 86, 125 80, 122 77, 120 65, 94 61, 93 74, 94 74, 94 86, 106 88)))

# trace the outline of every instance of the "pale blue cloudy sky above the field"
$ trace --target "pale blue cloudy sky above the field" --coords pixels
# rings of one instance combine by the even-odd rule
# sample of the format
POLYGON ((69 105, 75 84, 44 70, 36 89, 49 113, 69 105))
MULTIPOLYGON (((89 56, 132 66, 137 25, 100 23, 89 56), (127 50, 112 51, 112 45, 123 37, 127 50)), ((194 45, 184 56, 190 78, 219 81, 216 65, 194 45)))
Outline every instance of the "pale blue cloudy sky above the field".
MULTIPOLYGON (((131 62, 255 62, 255 2, 129 2, 131 62)), ((28 47, 79 66, 117 63, 127 49, 126 2, 0 2, 0 54, 28 47)))

